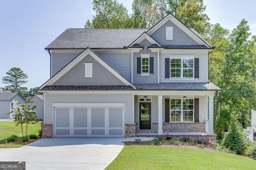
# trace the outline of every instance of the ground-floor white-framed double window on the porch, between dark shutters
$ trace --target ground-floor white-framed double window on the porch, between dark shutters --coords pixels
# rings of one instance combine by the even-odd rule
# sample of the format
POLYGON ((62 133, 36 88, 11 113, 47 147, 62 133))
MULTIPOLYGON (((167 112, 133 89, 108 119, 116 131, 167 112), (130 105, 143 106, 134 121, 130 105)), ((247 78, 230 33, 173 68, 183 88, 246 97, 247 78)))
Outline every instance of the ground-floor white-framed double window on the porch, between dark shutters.
POLYGON ((193 122, 194 99, 170 99, 170 122, 193 122))

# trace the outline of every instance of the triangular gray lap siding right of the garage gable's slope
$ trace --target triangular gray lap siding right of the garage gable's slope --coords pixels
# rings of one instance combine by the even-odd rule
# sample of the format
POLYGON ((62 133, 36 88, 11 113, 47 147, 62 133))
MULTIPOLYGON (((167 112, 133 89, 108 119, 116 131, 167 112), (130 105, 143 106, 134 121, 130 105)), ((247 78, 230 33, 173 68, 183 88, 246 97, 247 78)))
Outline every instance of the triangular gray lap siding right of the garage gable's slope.
POLYGON ((131 53, 97 53, 103 60, 131 82, 131 53))

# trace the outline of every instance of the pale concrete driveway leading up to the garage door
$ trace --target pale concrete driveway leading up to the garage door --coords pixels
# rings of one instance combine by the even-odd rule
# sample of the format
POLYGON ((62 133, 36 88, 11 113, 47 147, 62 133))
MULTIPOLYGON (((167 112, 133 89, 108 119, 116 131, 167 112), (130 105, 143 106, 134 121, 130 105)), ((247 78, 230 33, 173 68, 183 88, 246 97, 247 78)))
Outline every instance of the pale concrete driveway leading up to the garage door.
POLYGON ((27 170, 102 170, 123 149, 125 138, 40 139, 20 148, 0 149, 0 161, 26 161, 27 170))

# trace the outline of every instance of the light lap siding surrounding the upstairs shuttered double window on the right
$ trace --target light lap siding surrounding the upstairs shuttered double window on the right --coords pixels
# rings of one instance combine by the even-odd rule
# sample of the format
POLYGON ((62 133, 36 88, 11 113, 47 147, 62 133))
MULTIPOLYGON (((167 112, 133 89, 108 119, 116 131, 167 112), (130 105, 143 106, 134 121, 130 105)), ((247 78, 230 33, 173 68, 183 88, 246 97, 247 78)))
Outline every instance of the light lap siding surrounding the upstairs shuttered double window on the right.
POLYGON ((166 82, 207 82, 207 53, 160 53, 160 83, 166 82), (199 78, 193 80, 186 80, 186 78, 179 81, 165 78, 165 58, 170 58, 169 55, 195 55, 194 58, 199 58, 199 78))

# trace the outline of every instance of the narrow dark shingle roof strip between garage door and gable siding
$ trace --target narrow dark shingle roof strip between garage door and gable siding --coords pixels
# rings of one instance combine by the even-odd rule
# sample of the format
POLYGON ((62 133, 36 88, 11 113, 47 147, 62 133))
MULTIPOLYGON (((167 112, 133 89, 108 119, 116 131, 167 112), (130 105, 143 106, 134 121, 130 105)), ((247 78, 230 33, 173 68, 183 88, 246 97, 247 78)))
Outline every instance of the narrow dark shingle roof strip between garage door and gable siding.
POLYGON ((45 86, 42 90, 133 90, 131 86, 45 86))

